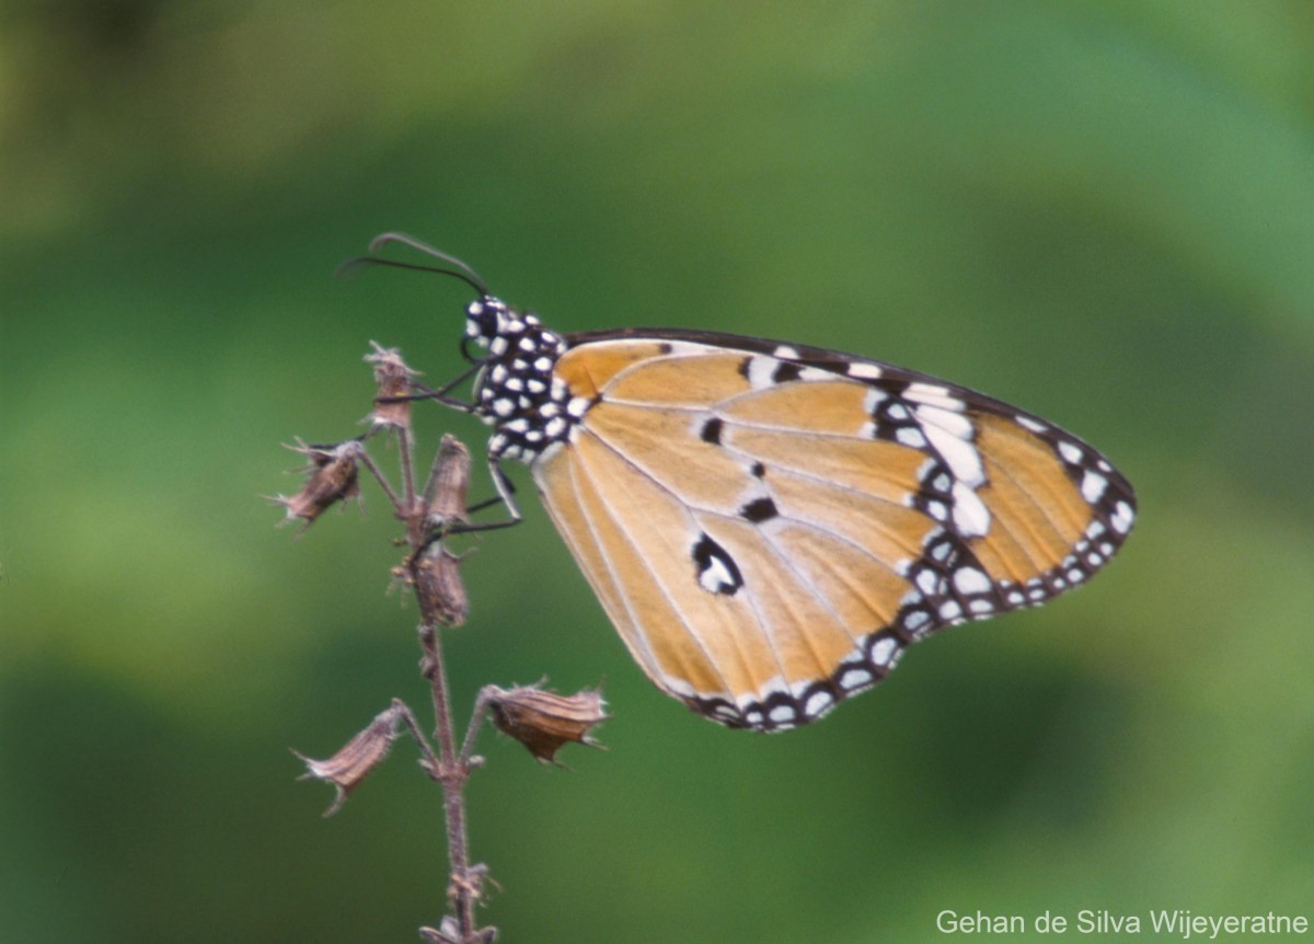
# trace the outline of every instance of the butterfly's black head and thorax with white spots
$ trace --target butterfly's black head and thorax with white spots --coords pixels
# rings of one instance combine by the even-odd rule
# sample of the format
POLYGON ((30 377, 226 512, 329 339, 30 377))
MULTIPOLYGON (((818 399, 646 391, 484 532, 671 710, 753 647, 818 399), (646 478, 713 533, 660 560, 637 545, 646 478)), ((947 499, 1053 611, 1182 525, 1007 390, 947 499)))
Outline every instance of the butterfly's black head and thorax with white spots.
POLYGON ((531 463, 565 442, 587 408, 572 404, 565 384, 552 376, 565 339, 493 296, 466 306, 465 334, 487 350, 474 381, 474 413, 494 429, 489 458, 531 463))

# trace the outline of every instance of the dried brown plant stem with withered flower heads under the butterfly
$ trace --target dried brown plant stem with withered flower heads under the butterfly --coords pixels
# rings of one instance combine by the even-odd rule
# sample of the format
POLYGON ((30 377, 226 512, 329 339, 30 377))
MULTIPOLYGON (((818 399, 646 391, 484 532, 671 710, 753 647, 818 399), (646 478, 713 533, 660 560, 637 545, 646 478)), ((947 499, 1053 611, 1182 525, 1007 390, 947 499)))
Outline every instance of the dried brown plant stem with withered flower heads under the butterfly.
POLYGON ((556 752, 569 742, 594 745, 590 731, 607 715, 598 692, 558 696, 536 685, 511 689, 486 685, 480 690, 457 748, 442 631, 465 622, 469 602, 460 577, 461 557, 444 544, 444 539, 453 531, 477 530, 468 523, 469 451, 455 438, 444 435, 428 477, 423 488, 418 488, 411 429, 411 405, 418 396, 411 384, 415 375, 396 350, 378 344, 373 344, 365 360, 373 366, 377 384, 369 431, 334 446, 298 442, 294 451, 310 460, 306 484, 297 494, 275 501, 286 509, 286 521, 301 519, 309 527, 331 505, 356 497, 361 465, 388 496, 397 518, 406 527, 407 554, 393 569, 393 576, 414 592, 419 605, 420 672, 430 684, 436 747, 430 744, 414 713, 394 698, 332 757, 313 760, 297 756, 306 764, 306 777, 332 784, 336 789, 334 803, 325 813, 331 815, 342 809, 351 790, 382 763, 405 730, 419 745, 420 767, 443 789, 447 826, 447 898, 451 912, 436 928, 422 927, 420 937, 434 944, 487 944, 497 930, 478 927, 476 905, 484 901, 485 884, 491 880, 485 865, 470 862, 465 818, 465 784, 484 763, 473 753, 484 718, 490 717, 494 724, 522 742, 540 761, 556 763, 556 752), (401 489, 393 486, 369 455, 367 442, 378 434, 397 439, 401 489))

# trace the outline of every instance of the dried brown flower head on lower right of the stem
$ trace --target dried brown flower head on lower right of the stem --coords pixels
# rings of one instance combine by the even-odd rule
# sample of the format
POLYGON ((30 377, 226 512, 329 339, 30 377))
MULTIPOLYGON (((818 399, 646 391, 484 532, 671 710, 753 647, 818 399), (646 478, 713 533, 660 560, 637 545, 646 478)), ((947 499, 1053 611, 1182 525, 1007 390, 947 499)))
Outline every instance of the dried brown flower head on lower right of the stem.
POLYGON ((610 715, 603 710, 602 693, 586 689, 558 696, 537 685, 501 689, 486 686, 480 698, 489 706, 493 723, 524 744, 544 764, 557 764, 557 751, 568 742, 602 747, 590 731, 610 715))

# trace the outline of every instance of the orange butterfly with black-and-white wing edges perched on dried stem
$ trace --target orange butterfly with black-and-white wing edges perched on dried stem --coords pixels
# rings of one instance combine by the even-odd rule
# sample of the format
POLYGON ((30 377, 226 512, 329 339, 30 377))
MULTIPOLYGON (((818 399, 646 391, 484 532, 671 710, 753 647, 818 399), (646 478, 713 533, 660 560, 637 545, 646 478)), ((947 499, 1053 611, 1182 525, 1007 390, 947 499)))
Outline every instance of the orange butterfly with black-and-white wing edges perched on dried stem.
POLYGON ((729 727, 782 731, 882 681, 946 626, 1101 569, 1135 493, 1039 417, 925 373, 669 329, 558 334, 459 259, 470 369, 432 396, 491 426, 648 677, 729 727), (477 351, 470 351, 473 344, 477 351), (473 401, 448 396, 473 377, 473 401))

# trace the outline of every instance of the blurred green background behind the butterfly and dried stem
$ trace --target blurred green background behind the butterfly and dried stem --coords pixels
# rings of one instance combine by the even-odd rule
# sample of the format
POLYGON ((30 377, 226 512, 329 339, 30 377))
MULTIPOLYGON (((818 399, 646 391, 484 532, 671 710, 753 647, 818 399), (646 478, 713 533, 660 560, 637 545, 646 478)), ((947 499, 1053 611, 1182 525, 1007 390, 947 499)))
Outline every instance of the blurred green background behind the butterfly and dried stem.
POLYGON ((561 330, 951 377, 1141 496, 1089 588, 765 738, 641 677, 512 469, 459 702, 604 678, 615 719, 574 773, 484 736, 502 940, 1314 911, 1309 4, 9 3, 0 206, 4 944, 440 916, 414 749, 330 820, 288 752, 424 705, 396 525, 367 488, 298 538, 260 498, 297 486, 280 443, 360 429, 369 339, 460 367, 463 285, 332 277, 388 229, 561 330))

